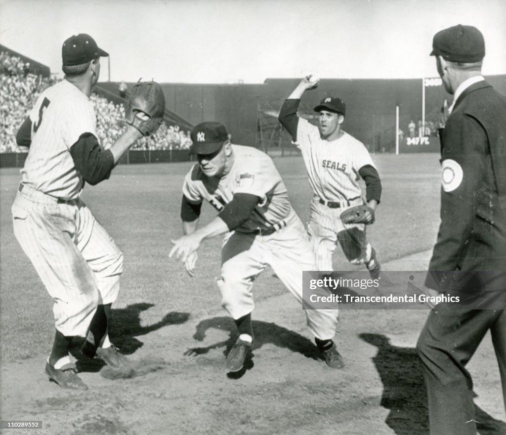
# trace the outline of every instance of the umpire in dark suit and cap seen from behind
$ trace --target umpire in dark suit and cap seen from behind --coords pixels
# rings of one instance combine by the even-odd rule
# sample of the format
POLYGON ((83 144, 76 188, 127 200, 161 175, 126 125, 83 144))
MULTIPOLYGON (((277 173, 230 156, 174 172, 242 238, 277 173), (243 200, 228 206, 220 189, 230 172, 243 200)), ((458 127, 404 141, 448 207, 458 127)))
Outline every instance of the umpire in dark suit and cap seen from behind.
POLYGON ((465 366, 488 331, 506 404, 506 97, 481 75, 485 43, 477 28, 436 33, 431 55, 454 99, 441 137, 441 225, 424 291, 469 303, 433 306, 416 348, 431 435, 476 435, 465 366))

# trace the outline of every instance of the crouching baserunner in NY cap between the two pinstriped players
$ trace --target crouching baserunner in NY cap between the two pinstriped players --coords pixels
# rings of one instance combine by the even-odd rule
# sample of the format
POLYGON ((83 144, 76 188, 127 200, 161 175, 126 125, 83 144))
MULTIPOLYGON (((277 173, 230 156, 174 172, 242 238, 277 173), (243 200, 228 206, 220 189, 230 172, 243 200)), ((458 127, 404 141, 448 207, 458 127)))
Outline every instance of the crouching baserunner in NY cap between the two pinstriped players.
MULTIPOLYGON (((200 243, 226 234, 218 286, 222 305, 234 319, 238 339, 227 356, 230 372, 241 370, 254 346, 251 311, 255 278, 270 265, 302 302, 302 272, 316 270, 304 225, 291 208, 283 180, 270 157, 258 149, 231 144, 225 126, 204 122, 191 132, 198 164, 185 177, 181 218, 183 235, 173 240, 170 257, 182 260, 193 275, 200 243), (198 228, 202 201, 218 216, 198 228)), ((330 367, 344 363, 332 338, 337 310, 307 309, 307 324, 330 367)))

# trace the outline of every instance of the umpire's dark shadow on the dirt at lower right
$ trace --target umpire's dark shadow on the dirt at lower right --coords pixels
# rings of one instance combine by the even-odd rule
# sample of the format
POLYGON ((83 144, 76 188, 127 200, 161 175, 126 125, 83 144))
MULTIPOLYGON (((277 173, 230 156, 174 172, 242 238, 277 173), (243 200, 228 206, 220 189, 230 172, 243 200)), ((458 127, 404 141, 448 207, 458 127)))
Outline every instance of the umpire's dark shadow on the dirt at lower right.
MULTIPOLYGON (((380 405, 390 410, 387 425, 397 435, 429 435, 427 389, 416 349, 393 346, 379 334, 364 333, 360 338, 378 349, 372 361, 383 382, 380 405)), ((506 433, 506 423, 476 405, 475 412, 480 435, 506 433)))

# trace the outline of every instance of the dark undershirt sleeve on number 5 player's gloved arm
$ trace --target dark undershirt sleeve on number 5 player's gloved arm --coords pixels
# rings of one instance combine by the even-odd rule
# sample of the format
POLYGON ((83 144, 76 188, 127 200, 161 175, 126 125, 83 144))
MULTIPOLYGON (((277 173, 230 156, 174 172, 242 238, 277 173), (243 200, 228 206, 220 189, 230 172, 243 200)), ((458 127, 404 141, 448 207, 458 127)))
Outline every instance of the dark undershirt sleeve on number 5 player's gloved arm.
POLYGON ((83 133, 70 147, 70 155, 76 169, 89 184, 95 185, 106 180, 114 167, 114 157, 103 149, 92 133, 83 133))

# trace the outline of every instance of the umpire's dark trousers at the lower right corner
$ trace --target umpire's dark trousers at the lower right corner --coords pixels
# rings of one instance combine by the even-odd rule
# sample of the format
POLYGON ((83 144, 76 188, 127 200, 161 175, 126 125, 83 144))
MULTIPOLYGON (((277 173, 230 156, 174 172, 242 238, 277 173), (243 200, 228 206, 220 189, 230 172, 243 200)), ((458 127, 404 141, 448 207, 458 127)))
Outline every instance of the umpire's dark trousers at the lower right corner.
POLYGON ((488 330, 499 363, 506 407, 504 296, 506 291, 485 295, 493 299, 494 307, 503 309, 448 309, 442 303, 429 314, 416 349, 427 384, 431 435, 476 435, 473 381, 465 366, 488 330))

